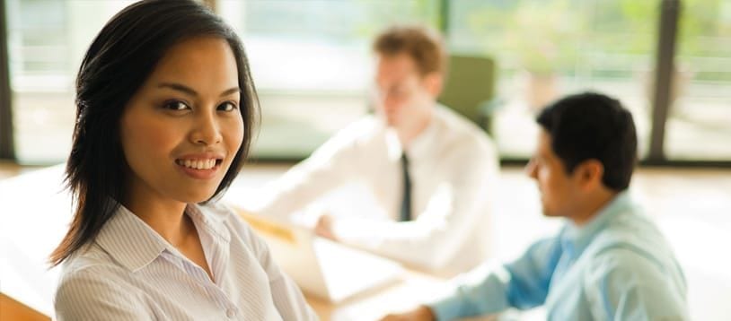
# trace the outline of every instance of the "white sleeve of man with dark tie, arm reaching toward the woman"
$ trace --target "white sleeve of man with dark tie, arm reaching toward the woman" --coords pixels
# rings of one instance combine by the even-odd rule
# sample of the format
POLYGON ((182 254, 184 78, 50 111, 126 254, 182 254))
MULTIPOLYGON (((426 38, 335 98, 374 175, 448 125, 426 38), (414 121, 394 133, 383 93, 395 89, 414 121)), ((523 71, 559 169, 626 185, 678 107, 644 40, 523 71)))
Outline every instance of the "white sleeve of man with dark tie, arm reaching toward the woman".
POLYGON ((290 214, 343 185, 353 177, 352 169, 357 168, 359 138, 371 129, 368 125, 358 122, 343 129, 309 158, 267 185, 256 204, 241 204, 242 208, 287 220, 290 214))

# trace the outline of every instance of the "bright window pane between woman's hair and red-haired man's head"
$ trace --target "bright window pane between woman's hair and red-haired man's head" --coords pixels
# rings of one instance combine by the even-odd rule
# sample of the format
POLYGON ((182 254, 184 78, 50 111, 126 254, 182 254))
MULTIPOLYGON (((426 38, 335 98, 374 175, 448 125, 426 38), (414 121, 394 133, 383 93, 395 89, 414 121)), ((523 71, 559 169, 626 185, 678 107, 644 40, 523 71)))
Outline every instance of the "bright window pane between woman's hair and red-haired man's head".
POLYGON ((436 0, 222 0, 260 94, 254 157, 299 159, 365 114, 370 45, 392 23, 436 26, 436 0))

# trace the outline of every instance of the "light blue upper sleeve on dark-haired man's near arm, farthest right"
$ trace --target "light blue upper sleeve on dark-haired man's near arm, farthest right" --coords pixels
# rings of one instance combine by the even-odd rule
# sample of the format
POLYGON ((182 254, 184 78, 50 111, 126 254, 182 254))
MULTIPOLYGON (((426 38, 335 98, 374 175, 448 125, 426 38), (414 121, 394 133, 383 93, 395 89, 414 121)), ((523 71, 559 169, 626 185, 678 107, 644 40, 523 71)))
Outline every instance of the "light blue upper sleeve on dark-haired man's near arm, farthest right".
POLYGON ((598 320, 688 320, 684 280, 673 280, 641 251, 612 248, 596 256, 586 295, 598 320))

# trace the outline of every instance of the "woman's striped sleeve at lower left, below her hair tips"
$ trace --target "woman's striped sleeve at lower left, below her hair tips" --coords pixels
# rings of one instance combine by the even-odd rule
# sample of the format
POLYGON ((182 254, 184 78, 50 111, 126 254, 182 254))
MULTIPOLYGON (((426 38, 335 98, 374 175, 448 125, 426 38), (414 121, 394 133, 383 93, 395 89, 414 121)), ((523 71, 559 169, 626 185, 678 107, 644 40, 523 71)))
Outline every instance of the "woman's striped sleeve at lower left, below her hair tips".
POLYGON ((154 320, 143 299, 108 276, 93 268, 65 275, 54 299, 57 320, 154 320))

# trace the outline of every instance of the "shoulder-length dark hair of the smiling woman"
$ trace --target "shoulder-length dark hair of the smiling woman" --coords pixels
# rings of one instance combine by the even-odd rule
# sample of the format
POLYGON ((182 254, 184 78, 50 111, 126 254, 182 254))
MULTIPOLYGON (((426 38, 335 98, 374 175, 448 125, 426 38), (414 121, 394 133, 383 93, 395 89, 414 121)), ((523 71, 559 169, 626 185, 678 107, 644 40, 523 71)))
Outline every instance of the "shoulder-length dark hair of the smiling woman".
POLYGON ((119 208, 128 168, 119 139, 122 111, 172 46, 197 37, 225 39, 236 58, 243 141, 213 197, 231 185, 259 119, 259 100, 241 40, 215 13, 192 0, 131 4, 101 29, 79 68, 74 141, 66 163, 75 214, 66 237, 50 255, 51 265, 62 263, 96 238, 119 208))

